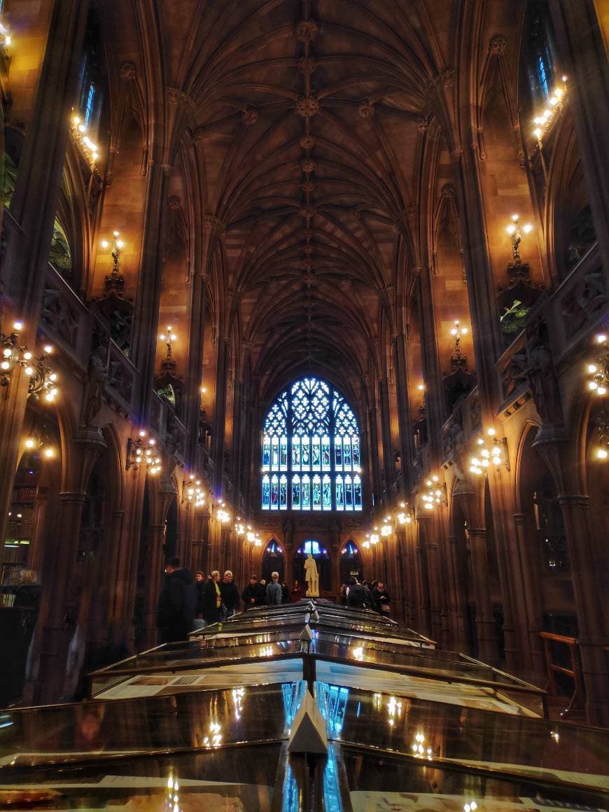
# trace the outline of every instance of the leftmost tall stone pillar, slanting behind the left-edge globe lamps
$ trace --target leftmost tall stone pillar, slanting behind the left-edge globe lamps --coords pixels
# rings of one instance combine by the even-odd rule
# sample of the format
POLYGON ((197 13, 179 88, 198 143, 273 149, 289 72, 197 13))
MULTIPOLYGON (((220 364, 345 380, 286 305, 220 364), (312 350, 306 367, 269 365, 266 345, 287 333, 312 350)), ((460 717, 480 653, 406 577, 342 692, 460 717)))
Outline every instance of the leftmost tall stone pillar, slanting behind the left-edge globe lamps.
MULTIPOLYGON (((19 226, 6 240, 0 292, 11 318, 24 322, 22 342, 33 350, 53 236, 70 128, 70 110, 82 55, 88 0, 55 0, 36 102, 19 159, 11 216, 19 226)), ((6 535, 13 479, 28 399, 28 376, 15 369, 0 403, 0 538, 6 535)))

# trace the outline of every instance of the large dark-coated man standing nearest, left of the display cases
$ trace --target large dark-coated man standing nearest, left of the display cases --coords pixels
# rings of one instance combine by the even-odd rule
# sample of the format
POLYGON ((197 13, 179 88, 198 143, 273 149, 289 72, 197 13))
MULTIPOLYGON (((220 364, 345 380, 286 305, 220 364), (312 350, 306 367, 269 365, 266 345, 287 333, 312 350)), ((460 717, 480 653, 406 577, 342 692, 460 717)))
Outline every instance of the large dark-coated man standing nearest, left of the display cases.
POLYGON ((161 597, 158 599, 157 626, 162 643, 188 640, 197 611, 197 594, 192 572, 180 566, 179 558, 166 564, 167 573, 161 597))

